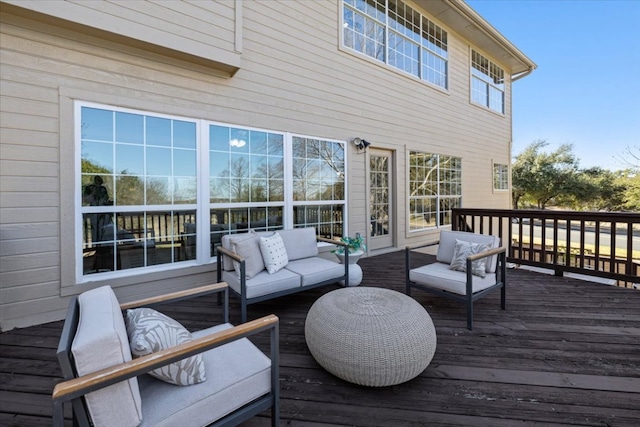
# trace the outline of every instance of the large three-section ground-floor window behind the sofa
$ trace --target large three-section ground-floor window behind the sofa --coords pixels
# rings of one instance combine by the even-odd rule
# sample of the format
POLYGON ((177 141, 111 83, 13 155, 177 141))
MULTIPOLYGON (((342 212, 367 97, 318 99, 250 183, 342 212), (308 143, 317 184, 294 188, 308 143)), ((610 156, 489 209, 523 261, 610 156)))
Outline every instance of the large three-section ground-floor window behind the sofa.
POLYGON ((249 229, 342 236, 343 142, 82 102, 76 117, 79 281, 205 263, 249 229))

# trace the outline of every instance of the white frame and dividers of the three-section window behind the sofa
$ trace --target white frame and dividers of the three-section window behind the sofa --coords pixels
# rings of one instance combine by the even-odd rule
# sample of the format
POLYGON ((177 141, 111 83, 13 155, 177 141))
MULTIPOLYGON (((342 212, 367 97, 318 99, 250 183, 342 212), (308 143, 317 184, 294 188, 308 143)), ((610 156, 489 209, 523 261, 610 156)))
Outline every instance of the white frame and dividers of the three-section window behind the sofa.
MULTIPOLYGON (((187 267, 193 267, 193 266, 202 266, 202 265, 206 265, 209 264, 211 262, 215 261, 215 255, 214 253, 212 253, 215 248, 211 248, 211 246, 213 245, 213 242, 211 241, 210 243, 210 239, 211 239, 211 229, 210 229, 210 225, 212 224, 212 216, 214 215, 214 211, 215 210, 220 210, 220 209, 229 209, 229 210, 233 210, 233 209, 251 209, 251 208, 258 208, 258 209, 266 209, 266 215, 268 217, 269 212, 270 212, 270 207, 276 207, 277 209, 281 209, 282 212, 282 218, 281 218, 281 223, 278 224, 277 226, 266 226, 265 228, 261 228, 263 230, 268 230, 268 229, 290 229, 290 228, 294 228, 294 227, 299 227, 299 226, 314 226, 314 225, 319 225, 319 224, 309 224, 309 223, 305 223, 302 225, 298 225, 295 223, 295 218, 294 218, 294 207, 295 206, 330 206, 333 209, 340 209, 340 215, 338 215, 338 218, 342 220, 341 223, 339 223, 337 226, 335 224, 332 223, 330 230, 332 233, 334 233, 336 230, 337 231, 341 231, 343 234, 346 233, 346 228, 347 228, 347 218, 348 218, 348 212, 347 212, 347 194, 346 194, 346 189, 347 189, 347 168, 348 168, 348 162, 347 162, 347 155, 348 155, 348 150, 347 150, 347 141, 341 141, 341 140, 334 140, 334 139, 328 139, 328 138, 322 138, 322 137, 317 137, 317 136, 303 136, 303 135, 298 135, 298 134, 294 134, 291 132, 282 132, 282 131, 275 131, 275 130, 267 130, 267 129, 258 129, 258 128, 252 128, 252 127, 247 127, 247 126, 239 126, 236 124, 228 124, 228 123, 221 123, 221 122, 215 122, 212 120, 206 120, 206 119, 201 119, 201 118, 193 118, 193 117, 184 117, 184 116, 179 116, 179 115, 174 115, 174 114, 165 114, 165 113, 158 113, 155 111, 148 111, 148 110, 144 110, 144 109, 131 109, 131 108, 124 108, 124 107, 120 107, 117 105, 109 105, 109 104, 102 104, 102 103, 96 103, 96 102, 90 102, 90 101, 82 101, 82 100, 78 100, 75 99, 72 101, 72 106, 73 106, 73 136, 74 136, 74 167, 73 167, 73 182, 74 182, 74 191, 73 191, 73 201, 74 201, 74 215, 73 215, 73 223, 71 224, 71 228, 73 230, 74 233, 74 250, 73 250, 73 261, 74 261, 74 269, 75 269, 75 283, 76 284, 84 284, 84 283, 88 283, 88 282, 95 282, 95 281, 102 281, 102 280, 112 280, 112 279, 119 279, 119 278, 127 278, 127 277, 133 277, 133 276, 138 276, 140 274, 150 274, 150 273, 154 273, 154 272, 164 272, 164 274, 166 274, 169 270, 177 270, 177 269, 181 269, 181 268, 187 268, 187 267), (196 128, 196 141, 195 141, 195 151, 196 151, 196 200, 195 203, 189 203, 189 204, 180 204, 180 203, 175 203, 174 200, 172 200, 171 203, 169 204, 163 204, 163 205, 147 205, 145 204, 144 198, 142 199, 142 204, 141 205, 134 205, 134 206, 88 206, 87 203, 84 203, 83 205, 83 190, 86 188, 86 182, 84 183, 85 185, 83 186, 83 168, 82 168, 82 157, 83 157, 83 122, 82 122, 82 111, 83 108, 95 108, 95 109, 101 109, 101 110, 106 110, 111 112, 112 114, 115 113, 129 113, 129 114, 134 114, 134 115, 141 115, 146 117, 157 117, 157 118, 163 118, 163 119, 169 119, 169 120, 177 120, 177 121, 186 121, 189 123, 195 123, 195 128, 196 128), (239 202, 234 202, 231 200, 228 201, 212 201, 211 199, 211 193, 210 193, 210 185, 211 185, 211 181, 210 178, 214 175, 210 176, 211 173, 211 169, 210 169, 210 153, 211 153, 211 141, 210 141, 210 129, 211 126, 224 126, 224 127, 229 127, 230 129, 242 129, 242 130, 247 130, 247 131, 255 131, 258 133, 261 132, 265 132, 267 134, 271 134, 271 135, 281 135, 282 137, 282 185, 283 185, 283 197, 282 200, 275 200, 275 201, 239 201, 239 202), (293 197, 293 140, 294 138, 309 138, 309 139, 314 139, 317 141, 322 141, 324 143, 329 143, 331 144, 332 148, 337 147, 338 149, 341 149, 341 164, 343 167, 343 173, 342 173, 342 199, 324 199, 324 200, 298 200, 298 201, 294 201, 294 197, 293 197), (335 145, 337 144, 337 145, 335 145), (204 185, 203 185, 204 184, 204 185), (87 248, 90 249, 90 246, 96 246, 94 243, 91 243, 89 241, 89 237, 90 234, 86 234, 86 232, 83 234, 83 229, 85 228, 85 226, 83 226, 84 222, 87 221, 87 214, 113 214, 114 212, 117 213, 140 213, 140 215, 142 216, 142 218, 146 218, 148 213, 153 213, 153 212, 164 212, 164 211, 181 211, 181 210, 193 210, 195 211, 195 236, 193 234, 190 234, 186 231, 186 227, 184 226, 184 224, 186 223, 186 221, 183 219, 182 223, 180 223, 179 221, 176 222, 177 224, 177 229, 176 226, 174 225, 171 229, 173 231, 173 236, 178 239, 178 238, 187 238, 188 235, 195 237, 195 242, 196 242, 196 250, 195 250, 195 254, 193 255, 193 258, 187 258, 186 255, 183 253, 183 258, 178 259, 177 257, 175 257, 174 255, 171 255, 171 261, 170 262, 166 262, 166 263, 162 263, 162 264, 154 264, 154 265, 143 265, 142 267, 132 267, 132 268, 127 268, 127 267, 123 267, 122 269, 120 269, 119 265, 115 264, 115 259, 117 259, 116 255, 113 256, 114 259, 114 263, 111 266, 111 270, 110 271, 104 271, 104 272, 94 272, 94 273, 88 273, 85 274, 85 268, 84 268, 84 263, 83 263, 83 252, 85 250, 85 246, 87 248), (182 225, 181 225, 182 224, 182 225), (85 242, 86 239, 86 242, 85 242), (185 259, 186 258, 186 259, 185 259)), ((146 119, 144 119, 146 120, 146 119)), ((146 123, 146 122, 145 122, 146 123)), ((115 129, 115 124, 112 124, 112 126, 115 129)), ((113 150, 113 152, 115 152, 116 150, 116 138, 115 136, 113 137, 113 141, 111 142, 112 147, 111 149, 113 150)), ((144 143, 146 144, 146 143, 144 143)), ((339 152, 339 151, 338 151, 339 152)), ((331 154, 336 154, 335 151, 332 151, 331 154)), ((94 158, 100 158, 100 157, 96 157, 95 155, 93 156, 94 158)), ((91 156, 90 156, 91 158, 91 156)), ((141 161, 143 161, 141 159, 141 161)), ((95 163, 99 163, 99 162, 95 162, 95 163)), ((108 162, 107 162, 108 163, 108 162)), ((112 174, 115 176, 116 175, 116 171, 115 168, 117 167, 116 164, 112 165, 112 174)), ((321 167, 325 167, 323 164, 321 164, 321 167)), ((174 168, 175 169, 175 168, 174 168)), ((172 172, 173 170, 172 169, 172 172)), ((147 174, 147 169, 144 169, 144 174, 147 174)), ((231 171, 230 171, 231 173, 231 171)), ((91 172, 91 174, 93 174, 93 172, 91 172)), ((268 172, 267 172, 268 174, 268 172)), ((86 175, 86 173, 85 173, 86 175)), ((173 176, 173 175, 172 175, 173 176)), ((142 177, 142 181, 143 181, 143 186, 145 185, 144 182, 146 182, 145 179, 146 175, 144 175, 142 177)), ((248 175, 249 179, 253 179, 254 176, 253 175, 248 175)), ((260 179, 260 177, 258 177, 258 179, 260 179)), ((265 178, 266 179, 266 178, 265 178)), ((86 179, 85 179, 86 181, 86 179)), ((339 181, 339 179, 337 180, 339 181)), ((325 184, 326 180, 322 180, 319 183, 319 191, 322 191, 322 193, 326 193, 326 190, 323 190, 325 187, 323 187, 325 184)), ((332 191, 330 192, 330 197, 336 197, 339 194, 336 193, 335 189, 334 189, 334 185, 333 184, 329 184, 329 186, 332 187, 332 191)), ((136 187, 137 188, 137 187, 136 187)), ((143 187, 146 188, 146 187, 143 187)), ((112 186, 113 189, 113 186, 112 186)), ((144 191, 144 190, 143 190, 144 191)), ((113 197, 113 196, 112 196, 113 197)), ((138 215, 138 217, 140 217, 140 215, 138 215)), ((112 218, 114 218, 114 222, 117 223, 118 218, 114 215, 112 218)), ((335 218, 335 215, 333 216, 333 218, 335 218)), ((146 222, 146 220, 144 220, 143 222, 144 224, 144 229, 147 230, 148 228, 151 228, 151 226, 149 226, 146 222), (148 228, 147 228, 148 227, 148 228)), ((117 230, 118 232, 120 232, 120 227, 116 227, 114 228, 114 230, 117 230)), ((115 231, 114 231, 115 234, 115 231)), ((146 231, 143 233, 146 234, 146 231)), ((343 235, 340 234, 340 235, 343 235)), ((331 237, 334 237, 334 235, 336 237, 339 237, 338 234, 332 234, 331 237)), ((344 234, 346 235, 346 234, 344 234)), ((114 254, 116 251, 120 250, 120 247, 118 246, 119 242, 119 238, 115 237, 115 240, 113 242, 111 242, 111 245, 115 245, 113 246, 113 250, 114 250, 114 254)), ((138 239, 140 239, 140 241, 145 242, 144 240, 144 236, 142 238, 137 237, 136 238, 136 242, 138 241, 138 239)), ((133 241, 133 240, 132 240, 133 241)), ((183 240, 184 243, 184 240, 183 240)), ((145 253, 147 250, 147 245, 146 243, 142 243, 145 253)), ((154 245, 155 245, 155 238, 154 238, 154 245)), ((182 248, 184 250, 184 244, 182 245, 182 248)), ((111 256, 111 255, 109 255, 111 256)), ((144 255, 144 259, 145 262, 147 260, 147 256, 144 255)), ((89 270, 87 270, 89 271, 89 270)))

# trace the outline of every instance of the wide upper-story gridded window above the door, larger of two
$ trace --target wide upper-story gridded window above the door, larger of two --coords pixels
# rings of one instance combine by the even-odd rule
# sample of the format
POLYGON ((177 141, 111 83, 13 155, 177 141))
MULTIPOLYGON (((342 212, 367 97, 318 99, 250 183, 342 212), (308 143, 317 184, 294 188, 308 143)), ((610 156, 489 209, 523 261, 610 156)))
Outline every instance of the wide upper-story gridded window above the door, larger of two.
POLYGON ((343 44, 443 89, 447 32, 400 0, 344 0, 343 44))

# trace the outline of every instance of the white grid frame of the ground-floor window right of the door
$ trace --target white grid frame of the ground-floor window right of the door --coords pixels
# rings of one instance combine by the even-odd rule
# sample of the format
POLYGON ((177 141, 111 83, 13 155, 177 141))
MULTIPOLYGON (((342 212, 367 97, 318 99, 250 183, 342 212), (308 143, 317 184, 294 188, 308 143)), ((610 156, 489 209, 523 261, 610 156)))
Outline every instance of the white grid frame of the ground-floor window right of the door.
MULTIPOLYGON (((407 167, 407 232, 408 234, 420 233, 424 231, 450 227, 451 226, 451 209, 456 207, 462 207, 462 158, 456 156, 442 155, 438 153, 430 153, 421 150, 408 150, 407 151, 407 159, 408 159, 408 167, 407 167), (432 190, 435 189, 435 193, 432 195, 412 195, 412 191, 414 185, 412 185, 412 175, 416 176, 416 173, 412 174, 412 168, 420 167, 424 168, 424 165, 419 165, 413 163, 414 155, 421 155, 423 159, 427 157, 431 157, 435 159, 434 166, 432 169, 436 172, 435 180, 431 180, 432 190), (443 160, 448 159, 455 163, 454 167, 445 168, 443 165, 443 160), (454 178, 457 179, 447 179, 447 176, 454 175, 454 178), (458 190, 457 192, 445 192, 443 189, 449 188, 458 190), (422 210, 418 212, 417 210, 412 209, 412 205, 419 204, 424 206, 424 201, 429 201, 432 205, 433 209, 431 211, 422 210), (442 209, 446 207, 446 209, 442 209), (412 217, 415 215, 424 215, 433 216, 435 219, 432 221, 427 221, 426 225, 423 227, 414 227, 412 225, 412 217), (448 219, 448 221, 447 221, 448 219)), ((415 180, 415 182, 419 182, 415 180)))

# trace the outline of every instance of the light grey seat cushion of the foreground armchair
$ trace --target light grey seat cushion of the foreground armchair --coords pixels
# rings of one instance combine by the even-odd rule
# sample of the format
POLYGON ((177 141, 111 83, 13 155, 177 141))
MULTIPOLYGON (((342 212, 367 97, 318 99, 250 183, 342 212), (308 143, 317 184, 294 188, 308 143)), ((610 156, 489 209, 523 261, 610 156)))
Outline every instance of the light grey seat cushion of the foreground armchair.
MULTIPOLYGON (((194 332, 193 337, 230 327, 218 325, 194 332)), ((215 380, 176 387, 148 375, 140 377, 141 426, 207 425, 271 390, 271 361, 246 338, 209 350, 203 359, 215 380)))

